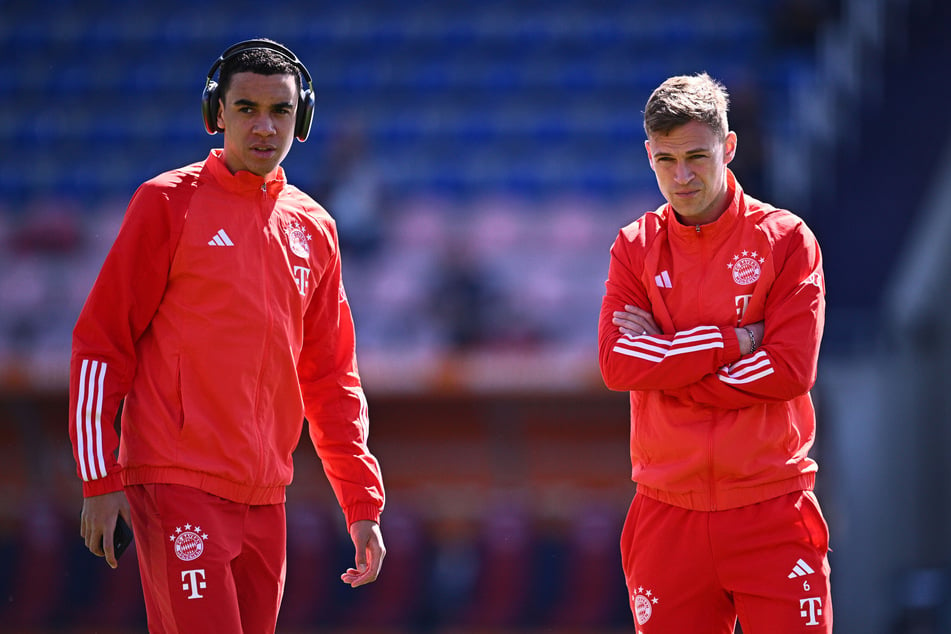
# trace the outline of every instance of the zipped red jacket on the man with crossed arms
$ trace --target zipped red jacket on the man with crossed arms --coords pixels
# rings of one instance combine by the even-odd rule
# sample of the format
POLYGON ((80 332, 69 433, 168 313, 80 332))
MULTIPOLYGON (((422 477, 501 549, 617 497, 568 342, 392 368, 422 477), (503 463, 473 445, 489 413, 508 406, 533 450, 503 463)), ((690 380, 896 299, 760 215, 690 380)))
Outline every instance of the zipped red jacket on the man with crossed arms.
POLYGON ((665 204, 624 227, 601 305, 605 384, 630 391, 638 494, 713 511, 811 490, 809 390, 825 312, 819 245, 794 214, 743 193, 716 221, 685 226, 665 204), (663 334, 611 323, 631 304, 663 334), (764 320, 741 356, 734 328, 764 320))

